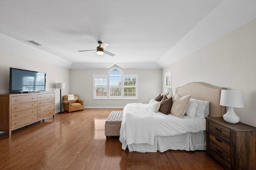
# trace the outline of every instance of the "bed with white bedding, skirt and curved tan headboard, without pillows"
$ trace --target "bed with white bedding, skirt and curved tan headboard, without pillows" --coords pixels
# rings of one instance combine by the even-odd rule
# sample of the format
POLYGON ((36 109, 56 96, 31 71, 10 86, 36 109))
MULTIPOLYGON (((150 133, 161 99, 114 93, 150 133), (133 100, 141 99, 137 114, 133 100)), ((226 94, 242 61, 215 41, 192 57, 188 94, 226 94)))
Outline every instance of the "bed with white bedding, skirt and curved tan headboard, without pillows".
MULTIPOLYGON (((192 82, 178 87, 180 96, 190 96, 194 100, 209 101, 209 117, 222 117, 225 107, 220 106, 222 87, 202 82, 192 82)), ((190 100, 191 101, 191 100, 190 100)), ((206 134, 204 117, 182 119, 172 114, 154 113, 148 104, 127 104, 120 129, 122 149, 137 152, 164 152, 166 150, 205 150, 206 134), (169 122, 170 121, 170 122, 169 122), (192 126, 188 126, 191 124, 192 126), (179 126, 181 129, 177 130, 179 126)))

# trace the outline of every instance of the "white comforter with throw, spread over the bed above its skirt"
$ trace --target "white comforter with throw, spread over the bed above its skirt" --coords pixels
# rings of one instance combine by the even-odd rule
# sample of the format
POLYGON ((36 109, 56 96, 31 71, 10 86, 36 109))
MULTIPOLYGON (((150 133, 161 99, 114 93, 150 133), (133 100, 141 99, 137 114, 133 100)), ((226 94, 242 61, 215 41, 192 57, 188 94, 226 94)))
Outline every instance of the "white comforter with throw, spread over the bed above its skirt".
POLYGON ((124 107, 120 129, 122 149, 127 145, 154 144, 154 136, 175 136, 184 133, 205 131, 206 121, 199 117, 182 119, 172 114, 154 113, 148 104, 132 103, 124 107))

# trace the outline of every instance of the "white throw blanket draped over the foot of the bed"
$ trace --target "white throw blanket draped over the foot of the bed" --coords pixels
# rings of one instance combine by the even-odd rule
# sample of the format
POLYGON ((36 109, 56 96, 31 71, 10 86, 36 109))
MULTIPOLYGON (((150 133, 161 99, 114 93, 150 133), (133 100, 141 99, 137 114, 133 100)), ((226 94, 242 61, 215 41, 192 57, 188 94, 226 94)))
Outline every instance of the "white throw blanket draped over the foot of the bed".
POLYGON ((154 118, 140 103, 127 104, 120 129, 122 149, 132 143, 154 144, 154 118))

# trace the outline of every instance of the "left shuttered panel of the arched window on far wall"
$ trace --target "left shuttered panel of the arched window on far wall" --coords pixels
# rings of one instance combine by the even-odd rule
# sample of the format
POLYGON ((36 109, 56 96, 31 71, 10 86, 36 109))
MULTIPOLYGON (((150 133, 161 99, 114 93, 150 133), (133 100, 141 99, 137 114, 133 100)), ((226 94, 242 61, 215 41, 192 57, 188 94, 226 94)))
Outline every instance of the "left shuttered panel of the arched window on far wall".
POLYGON ((108 97, 108 76, 94 76, 94 97, 108 97))

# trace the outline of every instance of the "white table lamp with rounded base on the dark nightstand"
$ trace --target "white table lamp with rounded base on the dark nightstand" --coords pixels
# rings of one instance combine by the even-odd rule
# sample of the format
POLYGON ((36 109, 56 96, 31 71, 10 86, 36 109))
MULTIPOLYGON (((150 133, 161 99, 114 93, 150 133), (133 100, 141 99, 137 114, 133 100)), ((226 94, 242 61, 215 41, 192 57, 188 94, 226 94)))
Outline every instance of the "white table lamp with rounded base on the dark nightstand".
POLYGON ((244 96, 242 90, 221 90, 220 105, 228 106, 228 111, 223 119, 228 123, 238 123, 240 118, 236 115, 233 107, 244 107, 244 96))

